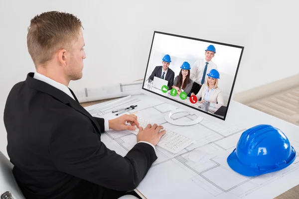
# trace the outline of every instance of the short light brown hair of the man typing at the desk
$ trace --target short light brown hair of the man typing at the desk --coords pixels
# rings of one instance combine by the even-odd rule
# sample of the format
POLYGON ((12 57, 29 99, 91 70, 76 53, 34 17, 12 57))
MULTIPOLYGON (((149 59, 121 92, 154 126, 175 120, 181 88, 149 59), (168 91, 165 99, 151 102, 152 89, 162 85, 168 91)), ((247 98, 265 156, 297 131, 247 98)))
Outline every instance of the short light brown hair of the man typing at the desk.
POLYGON ((28 27, 27 48, 35 67, 46 64, 59 49, 72 51, 81 27, 80 19, 65 12, 43 12, 32 18, 28 27))

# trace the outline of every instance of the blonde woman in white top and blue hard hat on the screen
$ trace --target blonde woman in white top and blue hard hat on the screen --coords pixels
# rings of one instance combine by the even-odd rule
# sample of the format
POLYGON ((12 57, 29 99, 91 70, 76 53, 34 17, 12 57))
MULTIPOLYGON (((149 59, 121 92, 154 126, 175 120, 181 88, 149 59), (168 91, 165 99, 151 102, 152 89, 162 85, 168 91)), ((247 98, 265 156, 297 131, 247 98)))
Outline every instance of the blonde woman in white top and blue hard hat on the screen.
MULTIPOLYGON (((207 76, 207 83, 200 88, 196 97, 197 99, 202 98, 200 103, 209 101, 210 106, 219 108, 224 105, 222 90, 218 88, 220 74, 216 69, 212 69, 207 76)), ((194 93, 191 93, 191 96, 194 96, 194 93)))

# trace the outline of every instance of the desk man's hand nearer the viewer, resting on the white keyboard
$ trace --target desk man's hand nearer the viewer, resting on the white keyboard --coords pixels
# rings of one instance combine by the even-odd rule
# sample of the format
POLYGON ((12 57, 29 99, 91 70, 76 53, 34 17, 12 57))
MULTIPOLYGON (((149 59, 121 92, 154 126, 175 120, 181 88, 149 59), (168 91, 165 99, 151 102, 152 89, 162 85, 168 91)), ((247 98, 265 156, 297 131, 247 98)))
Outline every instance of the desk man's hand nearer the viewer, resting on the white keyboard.
POLYGON ((160 140, 161 136, 166 132, 165 130, 159 132, 159 130, 161 129, 163 129, 163 126, 158 126, 157 124, 148 124, 145 129, 143 129, 143 127, 140 127, 137 134, 137 142, 145 141, 155 146, 160 140))

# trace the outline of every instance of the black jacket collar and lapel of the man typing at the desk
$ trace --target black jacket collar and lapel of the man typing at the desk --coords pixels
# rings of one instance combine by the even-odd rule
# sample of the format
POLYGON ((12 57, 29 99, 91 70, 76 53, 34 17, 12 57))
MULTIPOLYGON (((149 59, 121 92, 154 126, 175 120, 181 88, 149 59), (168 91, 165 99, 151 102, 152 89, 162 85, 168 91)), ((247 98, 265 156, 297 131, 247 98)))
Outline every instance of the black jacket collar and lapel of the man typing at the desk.
POLYGON ((78 112, 84 114, 85 116, 87 116, 93 123, 94 127, 96 128, 96 130, 98 132, 101 132, 101 128, 98 124, 98 122, 93 118, 93 116, 85 109, 83 108, 78 99, 76 98, 76 96, 74 95, 73 91, 71 91, 72 95, 74 96, 75 100, 73 100, 71 97, 69 97, 66 93, 64 93, 63 91, 45 83, 39 80, 36 80, 33 78, 34 73, 29 73, 27 75, 26 81, 25 83, 32 89, 38 90, 42 93, 48 94, 50 96, 52 96, 53 98, 55 98, 56 100, 61 101, 62 103, 69 105, 70 107, 74 108, 75 110, 77 110, 78 112))

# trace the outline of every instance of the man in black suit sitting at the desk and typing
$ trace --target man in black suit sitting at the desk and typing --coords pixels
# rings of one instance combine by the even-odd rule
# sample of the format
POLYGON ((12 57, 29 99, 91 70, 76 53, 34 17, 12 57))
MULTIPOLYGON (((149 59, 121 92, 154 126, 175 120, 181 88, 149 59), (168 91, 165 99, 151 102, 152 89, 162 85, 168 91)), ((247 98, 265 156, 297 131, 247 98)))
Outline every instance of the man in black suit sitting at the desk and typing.
MULTIPOLYGON (((125 157, 101 142, 105 130, 134 130, 135 115, 93 117, 68 88, 86 58, 81 21, 72 14, 35 16, 27 34, 36 67, 11 89, 4 109, 7 153, 28 199, 117 199, 133 191, 157 159, 162 126, 140 127, 125 157), (126 125, 126 121, 131 125, 126 125)), ((83 27, 82 27, 83 28, 83 27)), ((136 194, 135 194, 136 195, 136 194)))

